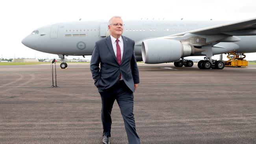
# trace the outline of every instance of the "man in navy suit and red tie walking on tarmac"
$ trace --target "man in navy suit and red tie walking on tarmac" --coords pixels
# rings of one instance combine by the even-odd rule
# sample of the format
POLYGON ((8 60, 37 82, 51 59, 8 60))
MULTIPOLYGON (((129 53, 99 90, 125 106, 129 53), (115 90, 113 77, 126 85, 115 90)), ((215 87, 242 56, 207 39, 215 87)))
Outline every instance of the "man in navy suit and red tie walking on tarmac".
POLYGON ((103 144, 109 144, 111 137, 111 110, 115 100, 124 119, 129 144, 140 144, 133 113, 133 92, 139 83, 135 42, 122 36, 123 26, 121 17, 112 17, 108 25, 110 36, 96 42, 91 57, 91 73, 102 100, 103 144))

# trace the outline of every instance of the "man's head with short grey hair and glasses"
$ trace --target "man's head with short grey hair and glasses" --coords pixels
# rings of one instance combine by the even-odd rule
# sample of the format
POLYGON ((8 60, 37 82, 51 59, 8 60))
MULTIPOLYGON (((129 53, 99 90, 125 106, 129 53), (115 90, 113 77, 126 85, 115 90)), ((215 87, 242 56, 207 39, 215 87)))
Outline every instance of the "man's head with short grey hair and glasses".
POLYGON ((110 35, 118 39, 122 35, 123 26, 120 26, 120 24, 123 25, 121 18, 112 18, 111 24, 108 26, 108 29, 110 31, 110 35), (117 26, 115 26, 117 24, 117 26))

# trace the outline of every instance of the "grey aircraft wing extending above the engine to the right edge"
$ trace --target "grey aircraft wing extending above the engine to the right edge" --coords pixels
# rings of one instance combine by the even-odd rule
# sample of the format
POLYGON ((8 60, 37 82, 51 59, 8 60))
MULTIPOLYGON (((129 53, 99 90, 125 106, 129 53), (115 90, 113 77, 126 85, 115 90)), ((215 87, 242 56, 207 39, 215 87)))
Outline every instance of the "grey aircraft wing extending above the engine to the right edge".
POLYGON ((167 37, 171 36, 179 36, 179 35, 185 35, 186 33, 192 33, 196 35, 256 35, 256 18, 250 18, 247 20, 241 20, 237 22, 231 22, 226 24, 219 24, 216 26, 210 26, 207 28, 201 28, 197 30, 192 31, 186 31, 182 33, 177 33, 174 35, 169 35, 167 37))

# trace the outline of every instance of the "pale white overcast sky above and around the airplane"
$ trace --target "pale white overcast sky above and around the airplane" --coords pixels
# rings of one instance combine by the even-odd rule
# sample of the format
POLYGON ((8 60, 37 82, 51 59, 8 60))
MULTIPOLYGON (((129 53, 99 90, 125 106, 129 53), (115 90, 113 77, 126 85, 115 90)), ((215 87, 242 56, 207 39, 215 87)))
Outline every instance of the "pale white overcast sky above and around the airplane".
MULTIPOLYGON (((108 20, 113 15, 120 15, 124 21, 141 18, 236 21, 256 17, 255 7, 253 0, 2 0, 0 56, 58 58, 21 43, 33 30, 48 24, 80 18, 83 21, 108 20)), ((247 54, 247 60, 255 60, 255 56, 255 53, 247 54)))

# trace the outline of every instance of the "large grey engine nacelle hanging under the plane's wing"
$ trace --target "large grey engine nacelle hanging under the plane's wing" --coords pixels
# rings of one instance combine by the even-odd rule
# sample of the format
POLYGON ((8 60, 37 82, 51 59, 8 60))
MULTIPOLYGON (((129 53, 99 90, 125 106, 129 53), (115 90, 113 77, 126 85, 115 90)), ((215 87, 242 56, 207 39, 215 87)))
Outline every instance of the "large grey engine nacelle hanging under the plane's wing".
POLYGON ((195 48, 189 44, 169 39, 147 39, 142 42, 144 63, 157 64, 178 61, 181 57, 193 55, 195 48))

